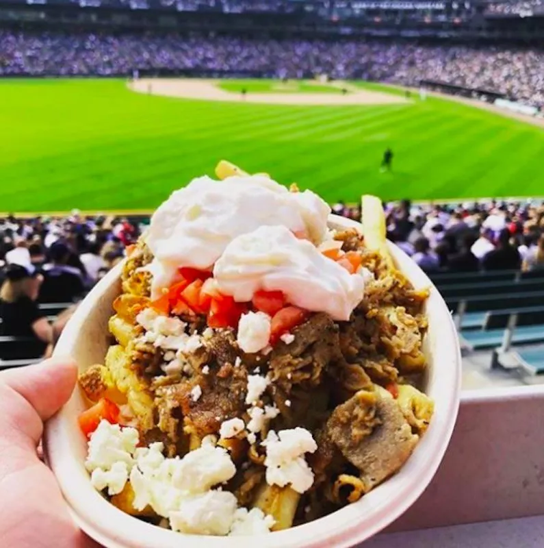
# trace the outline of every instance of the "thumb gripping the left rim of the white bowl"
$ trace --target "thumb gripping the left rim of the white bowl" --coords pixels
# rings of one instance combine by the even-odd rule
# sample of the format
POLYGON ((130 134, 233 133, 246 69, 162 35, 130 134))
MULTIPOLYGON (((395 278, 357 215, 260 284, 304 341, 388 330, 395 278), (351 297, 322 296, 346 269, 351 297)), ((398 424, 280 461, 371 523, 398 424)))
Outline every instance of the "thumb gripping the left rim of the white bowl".
POLYGON ((43 422, 68 401, 76 379, 77 368, 71 358, 51 358, 0 375, 0 383, 21 395, 43 422))

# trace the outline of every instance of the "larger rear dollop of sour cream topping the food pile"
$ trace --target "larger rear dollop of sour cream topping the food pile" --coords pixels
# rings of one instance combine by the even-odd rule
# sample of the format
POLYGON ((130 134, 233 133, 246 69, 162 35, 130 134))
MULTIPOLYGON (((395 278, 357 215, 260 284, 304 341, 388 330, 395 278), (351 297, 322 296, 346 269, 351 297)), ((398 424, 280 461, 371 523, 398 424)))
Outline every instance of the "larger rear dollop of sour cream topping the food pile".
POLYGON ((153 214, 146 243, 155 259, 152 297, 176 281, 179 267, 211 269, 229 243, 263 225, 282 225, 315 245, 326 236, 328 204, 310 190, 289 192, 268 177, 198 177, 153 214))

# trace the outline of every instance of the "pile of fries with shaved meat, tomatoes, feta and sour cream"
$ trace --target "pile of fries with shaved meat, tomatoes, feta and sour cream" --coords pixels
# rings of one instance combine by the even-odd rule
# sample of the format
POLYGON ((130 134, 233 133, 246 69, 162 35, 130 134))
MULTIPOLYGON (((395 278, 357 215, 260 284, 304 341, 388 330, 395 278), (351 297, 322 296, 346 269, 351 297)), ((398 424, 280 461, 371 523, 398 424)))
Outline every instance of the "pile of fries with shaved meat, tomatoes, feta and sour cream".
POLYGON ((328 227, 309 190, 221 162, 153 215, 129 250, 92 406, 94 488, 187 534, 306 523, 396 473, 426 431, 426 290, 385 245, 328 227))

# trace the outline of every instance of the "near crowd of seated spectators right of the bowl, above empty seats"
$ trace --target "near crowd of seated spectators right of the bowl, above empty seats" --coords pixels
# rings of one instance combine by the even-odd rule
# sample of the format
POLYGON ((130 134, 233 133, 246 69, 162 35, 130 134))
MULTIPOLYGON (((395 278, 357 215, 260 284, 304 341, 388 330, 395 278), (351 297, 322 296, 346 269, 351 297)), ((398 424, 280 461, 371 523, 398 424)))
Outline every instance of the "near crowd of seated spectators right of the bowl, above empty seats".
MULTIPOLYGON (((337 214, 359 219, 339 202, 337 214)), ((388 237, 427 273, 544 269, 544 203, 490 201, 386 206, 388 237)))

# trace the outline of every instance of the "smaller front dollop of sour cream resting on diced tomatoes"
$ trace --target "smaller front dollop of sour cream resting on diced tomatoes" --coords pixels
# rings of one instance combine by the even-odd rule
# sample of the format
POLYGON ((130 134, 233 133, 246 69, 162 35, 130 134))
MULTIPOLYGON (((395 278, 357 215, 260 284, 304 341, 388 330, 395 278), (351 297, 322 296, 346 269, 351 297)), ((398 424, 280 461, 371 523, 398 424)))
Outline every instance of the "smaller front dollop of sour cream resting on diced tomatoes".
POLYGON ((359 273, 325 257, 283 226, 263 226, 234 238, 213 268, 220 292, 250 301, 256 291, 283 291, 287 301, 347 321, 363 299, 359 273))

